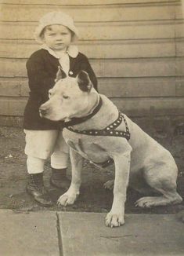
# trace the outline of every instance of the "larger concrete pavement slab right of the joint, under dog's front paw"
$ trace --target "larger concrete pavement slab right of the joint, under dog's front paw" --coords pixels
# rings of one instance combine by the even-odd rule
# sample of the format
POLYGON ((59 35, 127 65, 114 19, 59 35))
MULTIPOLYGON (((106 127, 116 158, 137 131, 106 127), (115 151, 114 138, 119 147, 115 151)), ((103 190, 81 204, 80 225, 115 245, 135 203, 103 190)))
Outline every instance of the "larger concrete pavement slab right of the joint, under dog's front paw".
POLYGON ((59 213, 63 255, 184 255, 184 224, 175 215, 127 214, 110 229, 106 214, 59 213))

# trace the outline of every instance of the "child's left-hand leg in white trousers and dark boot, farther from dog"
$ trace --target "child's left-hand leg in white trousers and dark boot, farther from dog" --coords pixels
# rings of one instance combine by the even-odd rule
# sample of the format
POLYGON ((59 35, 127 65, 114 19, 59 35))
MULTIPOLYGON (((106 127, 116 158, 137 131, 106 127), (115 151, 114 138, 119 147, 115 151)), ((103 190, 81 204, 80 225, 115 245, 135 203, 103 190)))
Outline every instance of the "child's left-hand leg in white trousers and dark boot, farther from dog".
POLYGON ((45 159, 51 155, 58 132, 56 130, 25 130, 27 154, 27 171, 29 182, 27 192, 33 196, 34 200, 49 207, 52 200, 44 187, 43 171, 45 159))

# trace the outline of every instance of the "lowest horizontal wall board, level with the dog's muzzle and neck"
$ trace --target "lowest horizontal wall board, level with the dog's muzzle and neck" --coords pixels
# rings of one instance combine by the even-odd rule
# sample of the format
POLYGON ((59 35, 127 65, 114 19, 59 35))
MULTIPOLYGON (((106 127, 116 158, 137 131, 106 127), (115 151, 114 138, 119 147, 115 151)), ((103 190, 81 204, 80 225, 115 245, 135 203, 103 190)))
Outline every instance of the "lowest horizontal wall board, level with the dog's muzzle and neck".
MULTIPOLYGON (((25 98, 15 98, 15 97, 0 97, 0 109, 1 115, 23 115, 23 108, 26 104, 25 98)), ((150 107, 155 108, 157 115, 183 115, 183 98, 179 97, 177 101, 175 98, 111 98, 117 108, 124 109, 124 112, 128 115, 133 116, 145 116, 149 115, 150 107)))

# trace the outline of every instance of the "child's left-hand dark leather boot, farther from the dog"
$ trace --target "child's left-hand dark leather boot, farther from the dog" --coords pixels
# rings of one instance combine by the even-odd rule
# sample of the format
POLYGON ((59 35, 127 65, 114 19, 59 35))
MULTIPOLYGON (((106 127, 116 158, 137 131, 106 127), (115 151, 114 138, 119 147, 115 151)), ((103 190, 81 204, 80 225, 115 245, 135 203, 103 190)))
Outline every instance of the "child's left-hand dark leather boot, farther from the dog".
POLYGON ((30 181, 26 186, 27 193, 44 207, 52 206, 52 200, 43 184, 43 174, 29 174, 30 181))

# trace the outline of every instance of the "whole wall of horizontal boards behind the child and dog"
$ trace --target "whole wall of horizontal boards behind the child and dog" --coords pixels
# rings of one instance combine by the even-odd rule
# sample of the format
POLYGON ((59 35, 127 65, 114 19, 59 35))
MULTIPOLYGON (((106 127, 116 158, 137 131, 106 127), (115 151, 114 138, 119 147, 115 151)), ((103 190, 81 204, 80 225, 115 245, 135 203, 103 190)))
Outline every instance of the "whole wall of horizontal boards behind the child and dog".
POLYGON ((74 17, 99 91, 132 116, 183 115, 184 20, 179 0, 2 0, 0 116, 22 116, 34 27, 53 10, 74 17))

